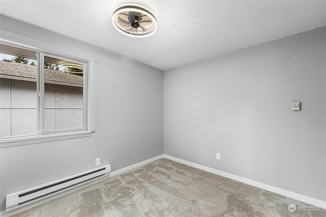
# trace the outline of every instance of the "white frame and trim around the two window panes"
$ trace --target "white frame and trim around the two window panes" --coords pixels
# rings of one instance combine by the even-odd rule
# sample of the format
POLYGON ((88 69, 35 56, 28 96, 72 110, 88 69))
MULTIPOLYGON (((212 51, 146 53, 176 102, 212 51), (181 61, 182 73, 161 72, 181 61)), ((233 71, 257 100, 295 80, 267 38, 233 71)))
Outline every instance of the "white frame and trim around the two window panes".
MULTIPOLYGON (((97 57, 9 33, 4 30, 0 30, 0 35, 0 43, 2 44, 38 52, 38 61, 40 61, 40 63, 38 62, 37 64, 38 71, 41 70, 41 66, 44 64, 41 62, 42 58, 40 58, 40 55, 49 55, 57 58, 77 60, 85 63, 87 66, 85 69, 87 73, 85 73, 85 78, 83 79, 83 95, 85 95, 85 98, 87 99, 87 102, 83 102, 83 107, 87 111, 84 112, 84 129, 79 129, 78 131, 71 129, 55 132, 44 132, 40 131, 41 129, 38 129, 39 134, 37 135, 1 138, 0 148, 91 136, 91 132, 95 132, 95 63, 97 62, 97 57)), ((38 76, 37 91, 42 90, 40 85, 43 85, 44 87, 44 83, 42 84, 40 79, 42 78, 38 76)), ((41 96, 44 97, 44 92, 41 94, 41 96)), ((39 100, 40 99, 38 97, 38 105, 40 105, 39 100)), ((42 112, 40 108, 38 108, 38 110, 39 112, 42 112)), ((38 118, 41 116, 39 112, 38 118)), ((38 121, 40 120, 38 119, 38 121)))

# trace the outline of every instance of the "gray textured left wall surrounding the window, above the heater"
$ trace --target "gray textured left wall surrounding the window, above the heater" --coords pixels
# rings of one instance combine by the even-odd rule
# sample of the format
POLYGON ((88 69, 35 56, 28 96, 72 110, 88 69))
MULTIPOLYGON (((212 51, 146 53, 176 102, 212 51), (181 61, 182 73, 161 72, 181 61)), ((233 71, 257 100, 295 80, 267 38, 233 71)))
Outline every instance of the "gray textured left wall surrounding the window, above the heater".
POLYGON ((95 158, 115 171, 163 154, 161 70, 4 16, 1 29, 98 57, 96 132, 0 149, 1 211, 7 194, 92 169, 95 158))

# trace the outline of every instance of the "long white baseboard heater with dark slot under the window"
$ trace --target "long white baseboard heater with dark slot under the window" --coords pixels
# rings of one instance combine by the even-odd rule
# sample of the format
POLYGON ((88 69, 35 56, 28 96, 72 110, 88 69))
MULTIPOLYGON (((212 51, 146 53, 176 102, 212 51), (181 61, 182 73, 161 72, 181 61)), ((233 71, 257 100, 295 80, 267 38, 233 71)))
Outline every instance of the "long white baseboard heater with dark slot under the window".
POLYGON ((92 181, 109 172, 111 172, 110 164, 9 194, 6 197, 6 211, 16 209, 45 197, 77 187, 78 185, 92 181))

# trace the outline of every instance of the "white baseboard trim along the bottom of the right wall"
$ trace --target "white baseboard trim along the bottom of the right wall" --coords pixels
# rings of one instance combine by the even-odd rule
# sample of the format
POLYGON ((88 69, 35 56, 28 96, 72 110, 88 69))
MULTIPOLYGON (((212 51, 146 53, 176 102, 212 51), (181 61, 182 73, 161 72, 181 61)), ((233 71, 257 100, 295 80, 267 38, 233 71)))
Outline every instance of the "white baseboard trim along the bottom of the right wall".
POLYGON ((191 167, 195 167, 197 169, 201 169, 201 170, 204 170, 204 171, 207 171, 207 172, 210 172, 210 173, 214 173, 214 174, 226 177, 226 178, 230 178, 230 179, 233 179, 233 180, 236 180, 236 181, 240 181, 242 183, 249 184, 249 185, 255 186, 257 188, 260 188, 260 189, 263 189, 263 190, 266 190, 266 191, 274 192, 276 194, 283 195, 285 197, 289 197, 289 198, 292 198, 292 199, 295 199, 295 200, 299 200, 299 201, 309 203, 311 205, 318 206, 318 207, 326 209, 326 201, 322 201, 322 200, 318 200, 318 199, 315 199, 315 198, 307 197, 307 196, 304 196, 304 195, 301 195, 301 194, 297 194, 297 193, 290 192, 290 191, 287 191, 287 190, 284 190, 284 189, 273 187, 273 186, 270 186, 268 184, 264 184, 264 183, 261 183, 261 182, 258 182, 258 181, 254 181, 254 180, 251 180, 251 179, 248 179, 248 178, 243 178, 241 176, 233 175, 233 174, 226 173, 226 172, 223 172, 223 171, 220 171, 220 170, 212 169, 210 167, 206 167, 206 166, 195 164, 195 163, 192 163, 192 162, 189 162, 189 161, 178 159, 178 158, 169 156, 167 154, 164 154, 164 158, 170 159, 172 161, 175 161, 175 162, 178 162, 178 163, 181 163, 181 164, 185 164, 185 165, 188 165, 188 166, 191 166, 191 167))

